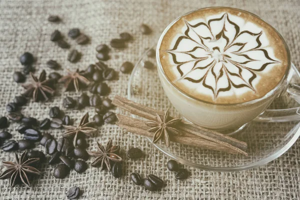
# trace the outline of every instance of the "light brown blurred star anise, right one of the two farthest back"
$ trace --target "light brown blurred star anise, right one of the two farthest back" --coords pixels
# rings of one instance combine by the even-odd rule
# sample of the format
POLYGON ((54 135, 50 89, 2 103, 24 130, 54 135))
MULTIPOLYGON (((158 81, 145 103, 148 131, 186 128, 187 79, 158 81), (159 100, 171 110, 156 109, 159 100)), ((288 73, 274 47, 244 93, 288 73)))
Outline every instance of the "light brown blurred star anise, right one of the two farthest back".
POLYGON ((79 69, 76 69, 75 72, 67 70, 68 74, 61 77, 58 82, 64 82, 65 91, 80 90, 80 87, 87 86, 89 84, 89 80, 80 74, 79 69))

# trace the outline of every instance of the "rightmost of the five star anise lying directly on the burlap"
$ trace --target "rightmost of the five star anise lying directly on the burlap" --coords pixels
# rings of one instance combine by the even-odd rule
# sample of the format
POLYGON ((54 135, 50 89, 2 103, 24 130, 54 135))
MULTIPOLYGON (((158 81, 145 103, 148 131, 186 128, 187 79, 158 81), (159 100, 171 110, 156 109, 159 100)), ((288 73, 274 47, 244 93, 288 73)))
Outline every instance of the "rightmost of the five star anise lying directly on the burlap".
POLYGON ((110 170, 110 160, 113 162, 120 162, 122 158, 116 154, 118 148, 117 146, 112 146, 112 141, 109 138, 106 148, 97 142, 97 151, 88 151, 88 154, 96 157, 96 159, 90 163, 91 166, 98 166, 100 164, 100 170, 104 169, 105 166, 107 170, 110 170))

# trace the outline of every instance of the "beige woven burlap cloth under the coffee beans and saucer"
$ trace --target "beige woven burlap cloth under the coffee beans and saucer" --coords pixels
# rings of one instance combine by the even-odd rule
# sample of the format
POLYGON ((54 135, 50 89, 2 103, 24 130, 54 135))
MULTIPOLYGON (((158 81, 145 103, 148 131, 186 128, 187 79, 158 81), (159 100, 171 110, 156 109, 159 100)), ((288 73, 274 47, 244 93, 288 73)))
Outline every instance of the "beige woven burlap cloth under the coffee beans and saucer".
MULTIPOLYGON (((260 15, 276 27, 286 39, 292 61, 300 64, 300 1, 299 0, 0 0, 0 115, 6 115, 5 105, 22 87, 13 82, 12 73, 20 70, 19 55, 24 51, 32 52, 36 57, 34 66, 39 74, 41 69, 47 72, 45 62, 55 59, 66 73, 66 68, 84 69, 94 63, 95 46, 108 43, 118 33, 128 31, 134 40, 123 50, 112 50, 110 67, 118 69, 125 61, 135 62, 144 48, 152 45, 159 32, 175 17, 189 10, 206 6, 232 6, 246 9, 260 15), (48 22, 49 14, 58 14, 60 23, 48 22), (138 31, 141 23, 149 24, 154 30, 151 35, 142 35, 138 31), (69 28, 78 27, 90 36, 91 43, 80 46, 67 38, 69 28), (66 61, 69 50, 61 49, 49 40, 54 29, 59 29, 72 48, 79 50, 83 56, 76 64, 66 61)), ((124 95, 129 75, 119 74, 119 80, 110 81, 110 97, 124 95)), ((75 92, 62 93, 57 89, 57 96, 45 103, 31 102, 22 110, 26 116, 38 119, 48 117, 49 106, 57 105, 69 114, 77 123, 85 111, 94 114, 89 107, 86 110, 67 110, 62 107, 62 99, 75 92)), ((146 99, 145 99, 146 100, 146 99)), ((22 136, 17 133, 16 123, 11 123, 8 130, 13 139, 22 136)), ((57 139, 63 130, 49 130, 57 139)), ((111 137, 114 143, 121 145, 125 151, 129 147, 140 147, 145 157, 140 160, 125 159, 124 176, 114 178, 106 171, 89 167, 83 174, 74 170, 64 179, 52 176, 53 166, 42 166, 42 175, 32 181, 32 186, 10 188, 8 180, 0 181, 0 199, 66 199, 65 192, 77 185, 83 190, 80 199, 299 199, 300 195, 300 142, 297 141, 286 153, 265 166, 241 172, 210 172, 187 167, 191 176, 179 181, 170 173, 165 163, 168 157, 155 149, 145 138, 133 134, 123 134, 115 125, 99 128, 99 133, 88 138, 89 149, 96 141, 105 143, 111 137), (166 183, 159 192, 150 192, 131 183, 128 175, 137 171, 141 175, 159 174, 166 183)), ((37 146, 36 149, 43 147, 37 146)), ((123 155, 125 157, 125 155, 123 155)), ((13 159, 13 153, 0 152, 0 160, 13 159)), ((89 159, 90 162, 91 158, 89 159)), ((2 164, 0 164, 2 168, 2 164)), ((1 169, 2 171, 3 169, 1 169)))

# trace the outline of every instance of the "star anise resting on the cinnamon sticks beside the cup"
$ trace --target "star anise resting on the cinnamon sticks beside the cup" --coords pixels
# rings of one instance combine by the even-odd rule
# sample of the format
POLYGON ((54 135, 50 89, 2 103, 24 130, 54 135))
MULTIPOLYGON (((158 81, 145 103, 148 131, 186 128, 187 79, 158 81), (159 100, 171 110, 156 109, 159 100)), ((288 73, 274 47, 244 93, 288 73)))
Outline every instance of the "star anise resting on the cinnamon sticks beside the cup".
POLYGON ((169 110, 167 109, 164 113, 163 118, 161 118, 157 113, 156 113, 156 121, 145 121, 145 124, 147 126, 150 126, 147 131, 148 132, 155 132, 153 136, 153 143, 156 143, 159 139, 163 138, 164 139, 164 144, 166 146, 170 145, 169 142, 169 134, 176 134, 176 135, 181 135, 181 133, 175 128, 175 125, 177 122, 181 121, 180 118, 175 118, 175 119, 170 119, 169 120, 169 110))

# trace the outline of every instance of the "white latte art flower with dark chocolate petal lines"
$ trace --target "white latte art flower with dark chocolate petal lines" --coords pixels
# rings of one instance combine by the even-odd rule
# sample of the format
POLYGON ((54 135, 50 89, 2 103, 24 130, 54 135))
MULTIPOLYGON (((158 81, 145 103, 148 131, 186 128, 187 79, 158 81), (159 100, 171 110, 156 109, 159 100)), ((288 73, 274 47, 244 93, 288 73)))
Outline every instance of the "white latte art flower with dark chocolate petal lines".
POLYGON ((245 91, 255 93, 259 74, 279 62, 262 29, 241 22, 237 16, 222 13, 184 22, 184 33, 165 50, 178 72, 175 81, 198 83, 196 87, 204 87, 213 99, 245 91))

